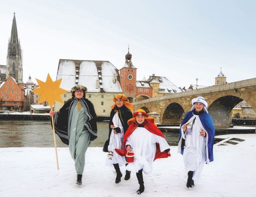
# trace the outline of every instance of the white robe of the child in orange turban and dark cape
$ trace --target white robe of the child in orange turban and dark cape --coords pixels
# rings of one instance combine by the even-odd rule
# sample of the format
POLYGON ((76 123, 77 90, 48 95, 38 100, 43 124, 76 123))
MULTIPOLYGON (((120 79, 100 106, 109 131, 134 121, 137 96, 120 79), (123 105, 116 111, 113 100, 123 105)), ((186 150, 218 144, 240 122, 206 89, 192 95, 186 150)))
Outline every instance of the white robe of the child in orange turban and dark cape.
POLYGON ((107 149, 109 151, 111 150, 114 153, 114 156, 111 159, 107 157, 106 165, 112 166, 112 164, 119 164, 119 166, 123 166, 124 164, 126 164, 125 157, 120 156, 114 150, 114 149, 123 150, 124 129, 123 129, 121 120, 119 119, 118 112, 116 112, 116 114, 113 116, 112 122, 114 124, 114 127, 120 128, 121 133, 114 134, 113 130, 111 131, 111 135, 109 138, 109 145, 107 149))

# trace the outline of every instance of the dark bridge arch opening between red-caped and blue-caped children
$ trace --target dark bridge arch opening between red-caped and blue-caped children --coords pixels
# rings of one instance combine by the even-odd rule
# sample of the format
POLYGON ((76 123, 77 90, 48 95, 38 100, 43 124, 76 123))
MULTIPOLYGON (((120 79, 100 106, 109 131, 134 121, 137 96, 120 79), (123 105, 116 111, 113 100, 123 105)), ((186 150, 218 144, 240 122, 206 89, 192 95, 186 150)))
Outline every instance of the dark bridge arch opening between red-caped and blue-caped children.
POLYGON ((173 102, 164 109, 161 118, 163 124, 180 124, 180 119, 185 115, 182 105, 173 102))

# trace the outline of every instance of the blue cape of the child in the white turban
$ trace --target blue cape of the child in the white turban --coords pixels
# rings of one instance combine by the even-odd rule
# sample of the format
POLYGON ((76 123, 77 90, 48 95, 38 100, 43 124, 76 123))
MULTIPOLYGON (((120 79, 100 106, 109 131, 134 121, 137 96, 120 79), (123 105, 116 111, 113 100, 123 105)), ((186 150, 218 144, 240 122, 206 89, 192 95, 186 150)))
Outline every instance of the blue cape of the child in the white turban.
MULTIPOLYGON (((183 124, 187 123, 187 121, 189 121, 190 118, 192 118, 193 116, 193 111, 189 111, 187 112, 187 114, 185 115, 181 125, 180 125, 180 137, 179 137, 179 141, 180 142, 180 138, 182 137, 181 135, 181 127, 183 124)), ((208 133, 208 157, 209 157, 209 161, 213 161, 213 143, 214 143, 214 135, 215 135, 215 129, 214 129, 214 124, 213 124, 213 119, 211 118, 211 116, 204 112, 203 114, 201 114, 199 116, 199 119, 202 123, 202 126, 204 127, 204 129, 207 131, 208 133)), ((182 139, 184 140, 184 139, 182 139)), ((184 143, 182 143, 181 146, 181 154, 183 155, 183 150, 184 150, 184 145, 185 145, 185 141, 184 143)))

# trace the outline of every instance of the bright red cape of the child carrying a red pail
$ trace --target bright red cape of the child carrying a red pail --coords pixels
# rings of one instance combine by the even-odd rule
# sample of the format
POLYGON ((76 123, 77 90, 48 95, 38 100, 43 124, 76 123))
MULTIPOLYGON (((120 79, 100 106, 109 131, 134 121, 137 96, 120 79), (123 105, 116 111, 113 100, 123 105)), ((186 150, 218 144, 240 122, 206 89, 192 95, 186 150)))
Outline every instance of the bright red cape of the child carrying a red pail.
MULTIPOLYGON (((124 135, 124 140, 123 140, 123 150, 120 149, 115 149, 115 151, 120 155, 120 156, 125 156, 127 153, 126 147, 125 147, 125 142, 127 140, 127 138, 131 135, 131 133, 133 133, 133 131, 138 127, 138 123, 136 121, 136 119, 133 118, 128 120, 128 124, 129 128, 127 129, 127 131, 125 132, 124 135)), ((149 132, 161 136, 164 138, 163 133, 157 128, 157 126, 154 124, 154 119, 145 119, 144 123, 142 123, 142 125, 144 126, 145 129, 147 129, 149 132)), ((159 158, 167 158, 171 156, 170 152, 167 154, 165 151, 160 152, 160 147, 159 147, 159 143, 156 143, 156 156, 154 158, 154 161, 156 159, 159 158)))

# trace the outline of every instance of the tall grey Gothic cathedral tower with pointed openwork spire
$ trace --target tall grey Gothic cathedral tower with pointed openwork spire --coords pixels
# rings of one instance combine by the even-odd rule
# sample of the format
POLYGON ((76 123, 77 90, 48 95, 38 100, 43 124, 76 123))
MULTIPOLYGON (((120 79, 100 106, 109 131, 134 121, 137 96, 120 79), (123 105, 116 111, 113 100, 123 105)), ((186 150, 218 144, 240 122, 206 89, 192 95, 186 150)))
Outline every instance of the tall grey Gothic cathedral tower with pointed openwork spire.
POLYGON ((12 20, 12 31, 8 42, 6 79, 12 76, 18 83, 23 82, 21 43, 18 38, 15 12, 12 20))

